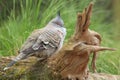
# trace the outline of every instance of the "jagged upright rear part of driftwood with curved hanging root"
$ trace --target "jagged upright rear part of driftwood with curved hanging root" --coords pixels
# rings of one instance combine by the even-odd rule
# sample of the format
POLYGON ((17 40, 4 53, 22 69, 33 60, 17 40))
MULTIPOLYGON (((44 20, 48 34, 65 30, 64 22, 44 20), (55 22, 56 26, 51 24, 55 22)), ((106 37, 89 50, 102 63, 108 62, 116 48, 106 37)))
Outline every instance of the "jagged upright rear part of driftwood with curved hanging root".
MULTIPOLYGON (((88 8, 85 8, 82 13, 78 13, 77 24, 75 27, 76 29, 73 39, 75 41, 86 42, 89 45, 99 46, 101 43, 100 34, 89 29, 92 7, 93 3, 90 3, 88 8)), ((96 57, 97 53, 95 52, 92 59, 92 69, 94 72, 96 72, 96 57)))

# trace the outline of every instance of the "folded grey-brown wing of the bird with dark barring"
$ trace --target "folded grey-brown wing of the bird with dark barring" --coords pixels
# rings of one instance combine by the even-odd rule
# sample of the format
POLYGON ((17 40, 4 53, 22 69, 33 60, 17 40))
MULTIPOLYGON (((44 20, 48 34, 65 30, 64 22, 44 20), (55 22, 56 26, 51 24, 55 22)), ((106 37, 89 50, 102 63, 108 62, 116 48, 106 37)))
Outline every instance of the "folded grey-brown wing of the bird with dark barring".
POLYGON ((58 32, 52 29, 34 31, 22 46, 20 53, 30 54, 36 51, 47 49, 46 46, 57 48, 60 45, 61 37, 58 32))

